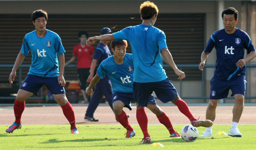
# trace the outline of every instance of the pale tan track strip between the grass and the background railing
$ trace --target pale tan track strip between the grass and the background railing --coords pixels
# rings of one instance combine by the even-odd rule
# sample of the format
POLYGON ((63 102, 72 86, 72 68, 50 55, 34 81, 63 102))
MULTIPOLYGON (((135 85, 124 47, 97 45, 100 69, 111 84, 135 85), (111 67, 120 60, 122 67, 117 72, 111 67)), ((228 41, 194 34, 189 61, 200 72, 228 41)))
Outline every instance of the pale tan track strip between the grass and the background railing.
MULTIPOLYGON (((162 110, 170 117, 173 124, 189 124, 189 120, 178 110, 177 106, 162 105, 162 110)), ((129 121, 131 124, 138 124, 136 120, 136 108, 129 111, 124 108, 126 114, 130 115, 129 121)), ((189 106, 191 112, 196 118, 205 119, 206 106, 189 106)), ((216 113, 215 124, 231 124, 233 106, 218 106, 216 113)), ((77 124, 119 124, 115 120, 114 113, 109 106, 101 105, 97 108, 94 117, 99 119, 99 122, 84 121, 84 113, 87 106, 74 106, 77 124)), ((254 118, 256 106, 245 106, 240 124, 256 124, 254 118)), ((148 124, 160 124, 156 115, 146 109, 148 116, 148 124)), ((0 124, 10 125, 14 122, 13 107, 0 108, 0 124)), ((26 107, 23 116, 23 124, 68 124, 67 119, 62 113, 60 106, 39 106, 26 107)))

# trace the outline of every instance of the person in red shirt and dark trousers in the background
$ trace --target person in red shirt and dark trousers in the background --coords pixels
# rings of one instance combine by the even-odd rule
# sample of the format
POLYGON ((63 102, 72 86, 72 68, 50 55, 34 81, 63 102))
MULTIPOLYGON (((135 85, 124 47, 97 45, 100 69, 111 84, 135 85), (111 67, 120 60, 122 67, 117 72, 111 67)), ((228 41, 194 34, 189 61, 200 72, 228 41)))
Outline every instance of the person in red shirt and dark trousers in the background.
POLYGON ((89 102, 86 95, 86 88, 88 87, 88 82, 86 81, 90 75, 90 67, 92 62, 92 57, 94 54, 93 46, 87 46, 86 40, 89 35, 86 31, 80 31, 78 33, 80 44, 76 45, 73 49, 73 57, 65 63, 65 66, 69 65, 77 58, 77 72, 78 81, 80 84, 81 93, 85 102, 89 102))

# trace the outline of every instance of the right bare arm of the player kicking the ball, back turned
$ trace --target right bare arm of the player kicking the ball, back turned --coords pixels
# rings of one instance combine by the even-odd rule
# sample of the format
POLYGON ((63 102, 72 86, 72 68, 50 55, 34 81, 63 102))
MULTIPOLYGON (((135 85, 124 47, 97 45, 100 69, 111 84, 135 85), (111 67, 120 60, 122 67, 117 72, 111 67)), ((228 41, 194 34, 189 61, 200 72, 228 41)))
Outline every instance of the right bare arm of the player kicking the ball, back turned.
POLYGON ((169 50, 164 48, 164 49, 161 50, 161 54, 164 57, 165 61, 169 64, 169 66, 173 68, 175 74, 179 76, 178 79, 179 80, 184 79, 186 77, 185 73, 180 71, 177 68, 177 66, 175 65, 173 56, 172 56, 172 54, 170 54, 169 50))

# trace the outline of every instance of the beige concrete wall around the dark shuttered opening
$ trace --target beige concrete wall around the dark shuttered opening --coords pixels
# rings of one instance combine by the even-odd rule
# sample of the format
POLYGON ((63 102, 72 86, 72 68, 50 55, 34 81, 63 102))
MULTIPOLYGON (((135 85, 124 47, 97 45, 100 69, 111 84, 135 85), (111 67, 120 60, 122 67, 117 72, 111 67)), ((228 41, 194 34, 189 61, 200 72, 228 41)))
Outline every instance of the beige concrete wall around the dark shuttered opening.
MULTIPOLYGON (((0 2, 0 14, 31 14, 36 9, 47 10, 49 14, 138 14, 142 1, 25 1, 0 2)), ((205 46, 210 35, 218 30, 218 1, 154 1, 163 13, 205 13, 205 46)), ((234 7, 241 12, 240 1, 226 1, 224 8, 234 7)), ((240 15, 241 16, 241 15, 240 15)), ((238 28, 241 27, 239 22, 238 28)), ((202 50, 203 51, 203 50, 202 50)), ((200 60, 198 60, 199 62, 200 60)), ((215 64, 215 50, 209 55, 207 63, 215 64)), ((206 69, 205 94, 209 96, 209 81, 214 69, 206 69)), ((179 82, 174 84, 179 91, 179 82)), ((183 81, 182 96, 202 96, 201 81, 183 81)), ((188 102, 204 102, 204 100, 189 100, 188 102)))

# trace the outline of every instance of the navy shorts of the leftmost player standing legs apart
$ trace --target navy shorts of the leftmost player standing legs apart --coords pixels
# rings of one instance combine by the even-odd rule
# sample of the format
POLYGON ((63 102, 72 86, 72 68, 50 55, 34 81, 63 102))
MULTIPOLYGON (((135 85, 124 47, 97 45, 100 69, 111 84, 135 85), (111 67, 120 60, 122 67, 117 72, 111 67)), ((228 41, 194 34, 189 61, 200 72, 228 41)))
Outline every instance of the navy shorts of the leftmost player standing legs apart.
POLYGON ((58 77, 39 77, 28 74, 19 89, 38 95, 44 84, 52 94, 65 94, 65 89, 58 83, 58 77))

